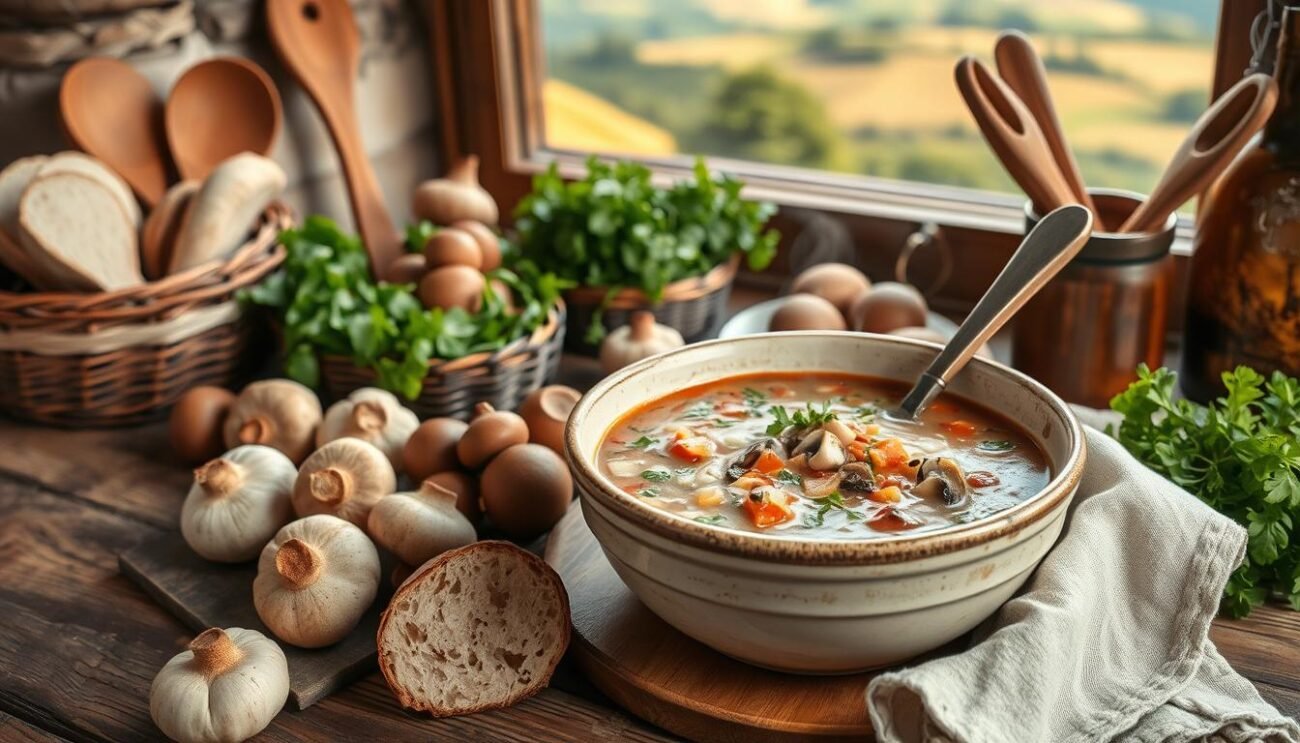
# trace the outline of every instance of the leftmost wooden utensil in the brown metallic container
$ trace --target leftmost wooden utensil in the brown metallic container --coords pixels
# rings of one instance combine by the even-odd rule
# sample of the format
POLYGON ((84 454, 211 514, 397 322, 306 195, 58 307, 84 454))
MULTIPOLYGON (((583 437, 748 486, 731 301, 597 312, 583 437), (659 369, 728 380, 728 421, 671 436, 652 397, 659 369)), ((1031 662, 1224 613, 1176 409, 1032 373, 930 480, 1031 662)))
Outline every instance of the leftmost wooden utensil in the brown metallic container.
POLYGON ((956 77, 984 139, 1039 213, 1074 204, 1074 194, 1052 158, 1043 130, 1011 88, 971 56, 957 61, 956 77))

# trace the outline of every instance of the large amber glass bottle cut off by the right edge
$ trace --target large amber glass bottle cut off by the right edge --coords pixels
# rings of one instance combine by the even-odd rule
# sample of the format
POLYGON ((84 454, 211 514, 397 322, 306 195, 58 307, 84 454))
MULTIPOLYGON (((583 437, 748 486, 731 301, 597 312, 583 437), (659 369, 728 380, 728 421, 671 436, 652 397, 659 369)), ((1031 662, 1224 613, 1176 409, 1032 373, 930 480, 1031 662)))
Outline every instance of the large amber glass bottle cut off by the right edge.
POLYGON ((1240 364, 1300 375, 1300 10, 1282 16, 1278 104, 1201 207, 1179 378, 1208 401, 1240 364))

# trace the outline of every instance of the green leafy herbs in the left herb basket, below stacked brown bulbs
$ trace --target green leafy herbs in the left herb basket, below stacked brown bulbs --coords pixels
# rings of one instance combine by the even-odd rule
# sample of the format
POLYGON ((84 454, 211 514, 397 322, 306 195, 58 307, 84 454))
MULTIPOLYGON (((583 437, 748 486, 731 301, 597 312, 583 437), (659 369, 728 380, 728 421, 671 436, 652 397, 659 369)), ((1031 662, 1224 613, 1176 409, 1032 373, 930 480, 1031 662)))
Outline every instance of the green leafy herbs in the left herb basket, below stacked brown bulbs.
POLYGON ((520 264, 488 273, 510 287, 516 310, 490 287, 476 313, 425 309, 413 284, 370 278, 360 239, 325 217, 308 217, 280 242, 287 249, 283 266, 244 296, 276 310, 285 373, 309 387, 320 382, 320 356, 346 356, 373 369, 380 387, 413 400, 430 360, 497 351, 533 333, 568 286, 520 264))

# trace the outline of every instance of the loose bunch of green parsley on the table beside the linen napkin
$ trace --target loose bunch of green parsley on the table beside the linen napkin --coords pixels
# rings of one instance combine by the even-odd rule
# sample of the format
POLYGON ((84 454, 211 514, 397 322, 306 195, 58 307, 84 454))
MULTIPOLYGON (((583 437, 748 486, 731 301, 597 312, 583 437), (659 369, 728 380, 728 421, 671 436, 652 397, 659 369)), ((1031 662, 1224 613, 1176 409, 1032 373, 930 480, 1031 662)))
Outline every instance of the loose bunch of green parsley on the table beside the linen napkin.
POLYGON ((1247 529, 1219 608, 1243 617, 1273 592, 1300 611, 1300 381, 1238 366, 1210 405, 1175 400, 1167 369, 1138 369, 1108 427, 1135 457, 1247 529))

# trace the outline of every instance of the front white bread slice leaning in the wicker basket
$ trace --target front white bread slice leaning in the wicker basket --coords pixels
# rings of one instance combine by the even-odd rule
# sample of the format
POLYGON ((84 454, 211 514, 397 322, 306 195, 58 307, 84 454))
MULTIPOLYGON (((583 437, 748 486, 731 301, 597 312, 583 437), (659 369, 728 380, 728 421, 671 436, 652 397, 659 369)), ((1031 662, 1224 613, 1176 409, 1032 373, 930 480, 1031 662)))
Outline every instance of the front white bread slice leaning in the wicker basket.
POLYGON ((20 240, 60 290, 110 291, 140 275, 135 227, 117 196, 81 173, 32 181, 18 203, 20 240))

